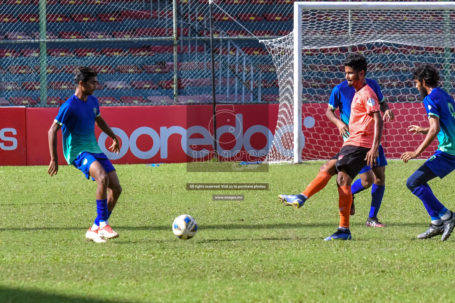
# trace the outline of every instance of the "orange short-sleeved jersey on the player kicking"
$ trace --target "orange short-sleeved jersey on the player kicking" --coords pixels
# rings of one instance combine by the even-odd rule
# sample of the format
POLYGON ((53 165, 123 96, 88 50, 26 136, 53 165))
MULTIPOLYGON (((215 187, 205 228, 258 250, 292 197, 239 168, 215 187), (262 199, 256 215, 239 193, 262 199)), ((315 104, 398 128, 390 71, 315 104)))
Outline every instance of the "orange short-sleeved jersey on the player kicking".
POLYGON ((373 113, 379 111, 378 97, 368 84, 355 93, 349 117, 349 138, 344 145, 371 148, 374 142, 373 113))

